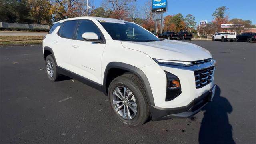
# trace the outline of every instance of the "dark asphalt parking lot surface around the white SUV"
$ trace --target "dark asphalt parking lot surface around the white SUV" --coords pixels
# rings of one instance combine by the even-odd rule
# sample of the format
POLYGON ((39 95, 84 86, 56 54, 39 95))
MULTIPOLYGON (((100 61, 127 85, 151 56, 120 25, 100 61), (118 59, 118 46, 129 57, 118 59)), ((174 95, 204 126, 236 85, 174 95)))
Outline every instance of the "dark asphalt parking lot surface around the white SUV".
POLYGON ((98 90, 50 82, 42 46, 0 47, 0 143, 255 143, 256 43, 187 42, 217 61, 213 102, 192 118, 136 128, 119 122, 98 90))

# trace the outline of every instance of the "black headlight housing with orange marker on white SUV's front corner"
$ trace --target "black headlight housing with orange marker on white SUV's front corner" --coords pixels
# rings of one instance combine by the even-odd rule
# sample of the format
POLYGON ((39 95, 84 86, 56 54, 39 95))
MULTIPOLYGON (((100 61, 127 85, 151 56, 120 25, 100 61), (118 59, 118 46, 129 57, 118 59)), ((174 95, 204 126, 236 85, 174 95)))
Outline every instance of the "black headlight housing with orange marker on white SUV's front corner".
POLYGON ((164 71, 167 78, 165 101, 171 101, 181 94, 180 80, 174 74, 164 71))

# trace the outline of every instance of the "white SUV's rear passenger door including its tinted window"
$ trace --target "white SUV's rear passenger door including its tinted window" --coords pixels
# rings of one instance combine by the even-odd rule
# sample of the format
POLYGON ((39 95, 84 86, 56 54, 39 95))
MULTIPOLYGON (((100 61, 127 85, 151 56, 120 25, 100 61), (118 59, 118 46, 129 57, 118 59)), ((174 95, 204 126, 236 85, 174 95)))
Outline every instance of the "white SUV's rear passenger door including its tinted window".
POLYGON ((71 70, 70 47, 78 20, 66 21, 60 27, 58 36, 54 37, 54 56, 58 66, 71 70))

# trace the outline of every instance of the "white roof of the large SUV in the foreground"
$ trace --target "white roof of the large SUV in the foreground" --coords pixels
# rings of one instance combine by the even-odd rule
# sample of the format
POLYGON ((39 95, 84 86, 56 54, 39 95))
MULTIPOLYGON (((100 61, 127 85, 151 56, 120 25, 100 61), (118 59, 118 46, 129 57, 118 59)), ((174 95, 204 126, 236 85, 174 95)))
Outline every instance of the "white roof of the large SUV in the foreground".
MULTIPOLYGON (((114 19, 114 18, 101 18, 101 17, 91 17, 91 16, 80 16, 80 17, 74 17, 74 18, 67 18, 67 19, 64 19, 64 20, 60 20, 58 22, 62 23, 62 22, 68 21, 68 20, 81 20, 81 19, 111 21, 111 22, 128 22, 128 21, 125 21, 125 20, 118 20, 118 19, 114 19)), ((58 22, 54 22, 54 23, 58 23, 58 22)))

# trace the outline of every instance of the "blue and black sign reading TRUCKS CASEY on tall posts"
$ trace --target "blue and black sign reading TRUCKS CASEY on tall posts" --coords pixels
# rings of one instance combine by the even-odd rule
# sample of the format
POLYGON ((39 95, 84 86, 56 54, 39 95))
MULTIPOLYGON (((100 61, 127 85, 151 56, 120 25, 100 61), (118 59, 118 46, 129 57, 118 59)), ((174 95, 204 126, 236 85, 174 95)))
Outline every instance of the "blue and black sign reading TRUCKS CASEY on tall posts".
POLYGON ((166 12, 167 0, 152 0, 152 12, 166 12))

